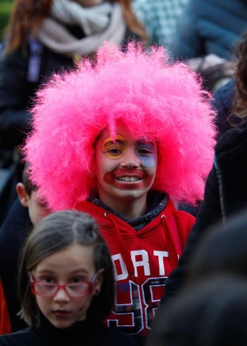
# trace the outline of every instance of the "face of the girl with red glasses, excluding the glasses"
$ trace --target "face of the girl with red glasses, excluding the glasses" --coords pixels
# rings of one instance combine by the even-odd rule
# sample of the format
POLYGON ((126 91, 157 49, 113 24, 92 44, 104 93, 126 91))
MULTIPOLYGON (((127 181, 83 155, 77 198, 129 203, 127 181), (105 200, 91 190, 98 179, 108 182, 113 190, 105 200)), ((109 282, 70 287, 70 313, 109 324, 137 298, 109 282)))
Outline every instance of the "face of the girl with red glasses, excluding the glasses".
MULTIPOLYGON (((37 281, 79 283, 91 281, 96 273, 93 261, 94 247, 73 244, 43 259, 32 275, 37 281)), ((49 322, 56 328, 68 328, 77 321, 86 319, 87 310, 96 290, 100 290, 102 275, 95 280, 93 293, 84 297, 70 297, 60 289, 54 297, 35 296, 38 306, 49 322)))

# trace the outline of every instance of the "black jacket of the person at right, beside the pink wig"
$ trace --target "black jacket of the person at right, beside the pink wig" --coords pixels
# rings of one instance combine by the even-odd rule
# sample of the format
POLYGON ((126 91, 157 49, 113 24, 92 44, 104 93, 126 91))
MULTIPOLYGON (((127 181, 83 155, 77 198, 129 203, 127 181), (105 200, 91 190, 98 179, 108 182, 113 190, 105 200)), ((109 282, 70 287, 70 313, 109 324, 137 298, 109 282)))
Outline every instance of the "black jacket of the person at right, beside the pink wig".
POLYGON ((247 208, 247 122, 227 131, 215 148, 214 166, 206 181, 204 200, 178 267, 166 280, 162 303, 175 295, 186 278, 188 261, 209 226, 247 208))

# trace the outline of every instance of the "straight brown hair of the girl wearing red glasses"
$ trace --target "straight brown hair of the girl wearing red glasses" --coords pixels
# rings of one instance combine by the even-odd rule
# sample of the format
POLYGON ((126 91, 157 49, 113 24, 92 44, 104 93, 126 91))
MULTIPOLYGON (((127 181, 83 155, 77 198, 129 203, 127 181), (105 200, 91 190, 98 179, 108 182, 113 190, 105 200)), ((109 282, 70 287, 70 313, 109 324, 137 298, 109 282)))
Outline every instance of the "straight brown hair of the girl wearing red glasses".
POLYGON ((114 302, 114 277, 111 257, 93 217, 77 211, 60 211, 43 218, 27 238, 21 254, 18 291, 20 316, 30 326, 40 324, 40 310, 31 293, 28 272, 46 257, 72 244, 93 245, 96 271, 104 268, 99 295, 93 296, 87 318, 102 321, 114 302))

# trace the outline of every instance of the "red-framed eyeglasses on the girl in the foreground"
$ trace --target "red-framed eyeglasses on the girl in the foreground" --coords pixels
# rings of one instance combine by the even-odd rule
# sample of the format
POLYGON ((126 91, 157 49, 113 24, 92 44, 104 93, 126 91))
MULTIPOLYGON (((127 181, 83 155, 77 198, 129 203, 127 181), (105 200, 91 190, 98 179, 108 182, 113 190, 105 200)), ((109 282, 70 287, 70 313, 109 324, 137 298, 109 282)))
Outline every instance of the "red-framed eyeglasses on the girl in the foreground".
POLYGON ((56 283, 37 281, 31 272, 28 274, 32 293, 42 297, 54 297, 60 289, 63 289, 69 297, 89 296, 93 292, 94 282, 98 275, 98 273, 96 273, 91 281, 58 285, 56 283))

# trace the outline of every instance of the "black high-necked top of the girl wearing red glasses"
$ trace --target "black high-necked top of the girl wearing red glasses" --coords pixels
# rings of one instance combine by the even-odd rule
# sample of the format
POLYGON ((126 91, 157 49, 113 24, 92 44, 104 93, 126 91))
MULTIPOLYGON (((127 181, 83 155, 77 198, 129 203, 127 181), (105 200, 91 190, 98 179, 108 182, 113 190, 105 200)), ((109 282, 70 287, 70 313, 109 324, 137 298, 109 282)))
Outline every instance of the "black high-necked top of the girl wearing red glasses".
POLYGON ((55 328, 41 314, 38 329, 26 328, 0 337, 0 346, 137 346, 134 337, 101 323, 80 321, 66 329, 55 328))

